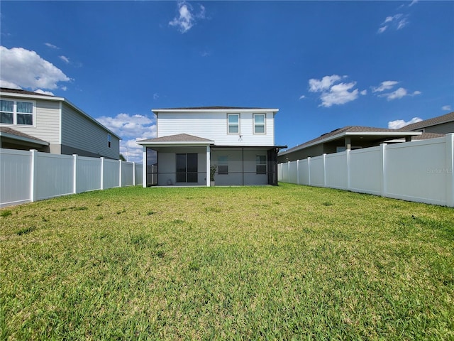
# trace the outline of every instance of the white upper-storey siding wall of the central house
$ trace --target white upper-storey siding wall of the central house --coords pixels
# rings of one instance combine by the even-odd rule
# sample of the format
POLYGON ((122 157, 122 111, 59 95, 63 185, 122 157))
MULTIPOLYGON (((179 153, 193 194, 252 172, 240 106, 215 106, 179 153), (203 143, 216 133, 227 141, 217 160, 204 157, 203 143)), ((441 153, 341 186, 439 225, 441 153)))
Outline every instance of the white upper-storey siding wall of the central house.
MULTIPOLYGON (((218 146, 274 146, 274 114, 266 113, 265 134, 253 134, 253 113, 240 114, 240 133, 227 134, 227 113, 167 113, 157 114, 157 137, 189 134, 215 141, 218 146), (241 136, 241 137, 240 137, 241 136)), ((262 114, 262 112, 257 112, 262 114)))

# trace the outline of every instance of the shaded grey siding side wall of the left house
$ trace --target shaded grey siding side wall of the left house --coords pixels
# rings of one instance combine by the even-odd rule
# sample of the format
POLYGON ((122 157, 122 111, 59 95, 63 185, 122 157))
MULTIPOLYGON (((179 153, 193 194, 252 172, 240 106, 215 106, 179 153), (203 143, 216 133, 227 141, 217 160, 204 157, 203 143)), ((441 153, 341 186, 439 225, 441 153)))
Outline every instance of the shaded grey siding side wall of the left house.
POLYGON ((62 104, 62 153, 77 151, 79 156, 104 156, 118 160, 120 141, 111 135, 109 148, 108 134, 108 131, 89 121, 69 105, 62 104))

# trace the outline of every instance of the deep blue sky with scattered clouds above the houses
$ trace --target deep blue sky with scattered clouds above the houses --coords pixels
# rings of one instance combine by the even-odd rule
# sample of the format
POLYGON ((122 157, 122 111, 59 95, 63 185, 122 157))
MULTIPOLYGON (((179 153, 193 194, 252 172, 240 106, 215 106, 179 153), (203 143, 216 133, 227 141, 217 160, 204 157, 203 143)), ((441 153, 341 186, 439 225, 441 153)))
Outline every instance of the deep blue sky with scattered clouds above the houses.
POLYGON ((1 85, 65 97, 132 161, 155 108, 278 108, 275 143, 289 147, 454 108, 454 1, 1 1, 0 13, 1 85))

